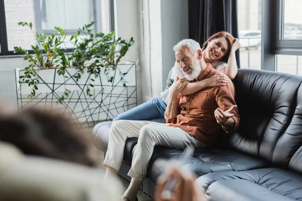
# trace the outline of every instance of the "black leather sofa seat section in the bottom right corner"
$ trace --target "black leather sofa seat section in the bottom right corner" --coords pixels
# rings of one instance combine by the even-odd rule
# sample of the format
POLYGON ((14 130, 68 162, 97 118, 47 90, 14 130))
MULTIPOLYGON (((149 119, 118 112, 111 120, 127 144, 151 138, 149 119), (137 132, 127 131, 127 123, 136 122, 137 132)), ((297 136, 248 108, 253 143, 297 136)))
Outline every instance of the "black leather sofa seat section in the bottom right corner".
POLYGON ((302 176, 286 169, 213 172, 200 176, 196 183, 206 192, 208 201, 302 201, 302 176))

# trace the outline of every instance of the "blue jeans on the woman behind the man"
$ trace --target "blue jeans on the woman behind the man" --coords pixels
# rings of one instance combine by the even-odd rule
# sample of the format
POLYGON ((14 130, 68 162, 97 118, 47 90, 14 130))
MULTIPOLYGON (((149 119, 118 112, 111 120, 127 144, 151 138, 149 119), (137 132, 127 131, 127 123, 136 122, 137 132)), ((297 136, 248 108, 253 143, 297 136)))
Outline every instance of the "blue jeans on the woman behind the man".
POLYGON ((165 111, 167 104, 161 97, 153 98, 147 102, 132 108, 122 114, 116 115, 113 121, 118 120, 137 120, 166 123, 165 111))

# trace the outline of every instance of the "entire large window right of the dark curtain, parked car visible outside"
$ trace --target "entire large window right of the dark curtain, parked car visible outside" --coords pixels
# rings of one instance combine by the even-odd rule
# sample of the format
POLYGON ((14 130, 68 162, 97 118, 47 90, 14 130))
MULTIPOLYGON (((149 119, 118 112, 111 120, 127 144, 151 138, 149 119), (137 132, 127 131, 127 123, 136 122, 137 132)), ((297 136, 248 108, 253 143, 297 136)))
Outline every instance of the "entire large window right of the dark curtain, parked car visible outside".
POLYGON ((301 0, 239 0, 241 68, 302 75, 301 0))

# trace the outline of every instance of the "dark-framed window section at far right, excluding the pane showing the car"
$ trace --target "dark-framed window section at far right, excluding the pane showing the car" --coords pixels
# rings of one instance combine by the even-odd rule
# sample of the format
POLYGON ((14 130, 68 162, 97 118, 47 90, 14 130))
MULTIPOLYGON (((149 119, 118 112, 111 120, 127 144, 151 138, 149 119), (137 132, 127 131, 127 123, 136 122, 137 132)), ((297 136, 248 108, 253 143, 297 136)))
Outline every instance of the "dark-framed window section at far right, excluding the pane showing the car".
POLYGON ((262 69, 302 75, 302 4, 300 0, 262 0, 265 40, 262 69))

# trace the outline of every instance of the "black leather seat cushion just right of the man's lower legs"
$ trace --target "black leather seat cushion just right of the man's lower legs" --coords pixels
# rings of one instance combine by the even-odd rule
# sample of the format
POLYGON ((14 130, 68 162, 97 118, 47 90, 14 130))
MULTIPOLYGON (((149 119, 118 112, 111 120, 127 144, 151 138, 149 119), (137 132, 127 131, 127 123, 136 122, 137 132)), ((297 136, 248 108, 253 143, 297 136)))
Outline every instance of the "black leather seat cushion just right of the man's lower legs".
MULTIPOLYGON (((170 160, 178 160, 182 151, 157 146, 150 159, 147 177, 156 179, 165 171, 170 160)), ((254 158, 232 150, 223 149, 196 149, 193 157, 186 166, 196 175, 201 176, 216 171, 242 171, 255 168, 269 167, 270 164, 260 158, 254 158)))

